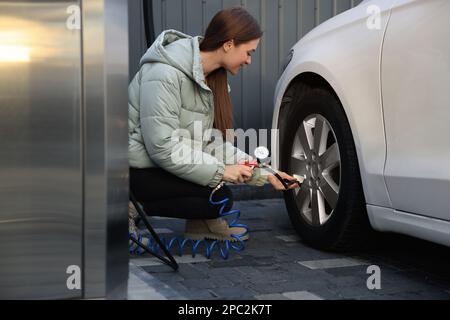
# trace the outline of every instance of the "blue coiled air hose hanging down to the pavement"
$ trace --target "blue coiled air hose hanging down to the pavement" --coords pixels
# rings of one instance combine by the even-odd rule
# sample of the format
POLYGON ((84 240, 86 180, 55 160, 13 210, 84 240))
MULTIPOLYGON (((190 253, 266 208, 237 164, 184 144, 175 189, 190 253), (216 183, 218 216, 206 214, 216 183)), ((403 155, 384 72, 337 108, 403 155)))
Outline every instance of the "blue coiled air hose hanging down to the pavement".
MULTIPOLYGON (((222 256, 223 259, 228 259, 229 257, 229 253, 230 253, 230 248, 234 249, 236 252, 240 252, 242 250, 245 249, 245 243, 242 240, 242 238, 248 234, 249 229, 245 224, 239 224, 237 223, 237 221, 239 220, 240 216, 241 216, 241 212, 240 210, 231 210, 231 211, 227 211, 224 212, 225 207, 227 205, 227 203, 230 201, 229 198, 225 198, 221 201, 214 201, 213 195, 214 193, 219 190, 224 183, 220 183, 210 194, 209 196, 209 202, 213 205, 221 205, 220 210, 219 210, 219 216, 221 218, 225 218, 228 216, 232 216, 235 215, 234 220, 231 221, 231 223, 229 224, 229 227, 241 227, 244 228, 246 231, 243 234, 232 234, 231 237, 236 239, 236 242, 233 243, 229 240, 225 240, 224 241, 224 248, 220 245, 218 240, 214 240, 211 243, 208 243, 207 240, 193 240, 190 238, 179 238, 179 237, 173 237, 171 239, 169 239, 168 241, 166 241, 166 239, 164 237, 160 237, 161 238, 161 242, 163 243, 163 245, 167 248, 168 251, 171 251, 172 247, 176 244, 176 247, 178 248, 178 254, 181 257, 183 255, 183 251, 186 247, 186 245, 190 245, 192 248, 192 257, 195 257, 195 255, 197 254, 197 250, 200 248, 200 245, 203 245, 205 248, 205 256, 209 259, 211 257, 211 253, 213 252, 214 248, 218 248, 220 255, 222 256), (237 243, 237 244, 236 244, 237 243)), ((133 233, 129 234, 130 237, 133 237, 135 240, 137 240, 139 243, 143 243, 143 236, 139 235, 139 237, 136 239, 133 233)), ((159 245, 156 243, 156 241, 154 241, 154 239, 152 238, 148 238, 148 244, 147 244, 147 249, 150 250, 153 253, 158 254, 160 247, 159 245)), ((139 247, 138 245, 136 245, 135 243, 130 244, 130 248, 129 248, 130 253, 132 254, 138 254, 141 255, 145 252, 145 250, 141 247, 139 247)))

